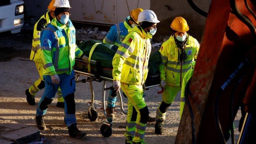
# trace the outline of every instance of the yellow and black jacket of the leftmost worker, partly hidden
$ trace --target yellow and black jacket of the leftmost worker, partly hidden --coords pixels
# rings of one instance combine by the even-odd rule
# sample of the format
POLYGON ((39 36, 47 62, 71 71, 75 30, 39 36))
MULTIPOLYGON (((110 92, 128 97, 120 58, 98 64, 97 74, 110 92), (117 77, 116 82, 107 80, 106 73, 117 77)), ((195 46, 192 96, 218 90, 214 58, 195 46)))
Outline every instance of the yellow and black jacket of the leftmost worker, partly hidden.
POLYGON ((47 24, 51 23, 51 20, 52 17, 50 16, 50 12, 48 11, 46 14, 42 15, 42 17, 38 20, 38 22, 36 22, 34 26, 32 49, 30 53, 30 60, 32 61, 43 63, 40 56, 40 33, 47 24))

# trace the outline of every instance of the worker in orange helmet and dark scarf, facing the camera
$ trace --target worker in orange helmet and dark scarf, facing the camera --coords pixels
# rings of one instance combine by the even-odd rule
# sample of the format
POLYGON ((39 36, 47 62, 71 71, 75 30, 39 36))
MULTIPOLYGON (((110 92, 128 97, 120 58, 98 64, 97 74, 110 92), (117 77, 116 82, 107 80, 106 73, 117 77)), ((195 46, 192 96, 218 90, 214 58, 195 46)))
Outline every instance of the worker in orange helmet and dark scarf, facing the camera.
POLYGON ((200 46, 195 38, 186 33, 189 26, 184 18, 176 17, 170 27, 174 32, 159 50, 162 59, 159 66, 160 85, 164 87, 164 92, 156 111, 156 134, 163 133, 166 112, 181 90, 183 77, 192 68, 191 62, 195 61, 200 46))

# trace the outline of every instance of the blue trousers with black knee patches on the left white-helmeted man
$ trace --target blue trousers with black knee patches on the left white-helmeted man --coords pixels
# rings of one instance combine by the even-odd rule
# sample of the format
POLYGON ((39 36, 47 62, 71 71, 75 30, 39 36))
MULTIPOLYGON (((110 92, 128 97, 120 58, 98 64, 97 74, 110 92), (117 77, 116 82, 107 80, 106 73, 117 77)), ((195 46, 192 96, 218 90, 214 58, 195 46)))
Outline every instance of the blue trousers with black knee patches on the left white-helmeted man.
POLYGON ((38 108, 36 110, 36 116, 45 115, 48 105, 51 104, 58 88, 62 90, 62 96, 64 98, 64 108, 65 108, 65 123, 67 127, 76 123, 76 114, 74 103, 74 93, 76 90, 76 82, 74 79, 74 71, 71 74, 58 74, 60 78, 60 84, 52 83, 51 76, 43 76, 45 81, 45 91, 42 98, 39 101, 38 108))

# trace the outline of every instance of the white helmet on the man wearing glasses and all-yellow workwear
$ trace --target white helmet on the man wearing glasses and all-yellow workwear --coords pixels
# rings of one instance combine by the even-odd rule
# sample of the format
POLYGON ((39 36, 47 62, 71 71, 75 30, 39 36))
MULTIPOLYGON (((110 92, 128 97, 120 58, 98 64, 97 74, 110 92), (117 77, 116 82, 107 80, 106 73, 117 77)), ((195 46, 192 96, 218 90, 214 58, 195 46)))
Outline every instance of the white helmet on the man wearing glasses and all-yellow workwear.
POLYGON ((143 10, 139 13, 138 22, 159 23, 160 21, 157 19, 156 14, 153 12, 153 10, 143 10))

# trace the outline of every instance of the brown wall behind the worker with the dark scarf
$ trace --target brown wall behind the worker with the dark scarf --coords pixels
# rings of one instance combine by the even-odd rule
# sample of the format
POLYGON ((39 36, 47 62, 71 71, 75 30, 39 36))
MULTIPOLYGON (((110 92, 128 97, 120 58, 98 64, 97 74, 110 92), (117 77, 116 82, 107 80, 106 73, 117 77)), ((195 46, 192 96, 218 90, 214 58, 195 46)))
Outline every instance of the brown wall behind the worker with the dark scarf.
MULTIPOLYGON (((193 1, 200 9, 208 12, 210 0, 193 1)), ((153 36, 155 40, 163 41, 165 36, 170 36, 172 20, 177 16, 182 16, 188 22, 188 33, 199 42, 201 41, 206 18, 195 12, 187 0, 151 0, 150 9, 156 13, 160 20, 157 25, 157 33, 153 36)))

